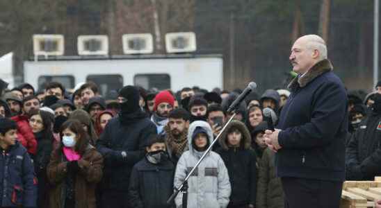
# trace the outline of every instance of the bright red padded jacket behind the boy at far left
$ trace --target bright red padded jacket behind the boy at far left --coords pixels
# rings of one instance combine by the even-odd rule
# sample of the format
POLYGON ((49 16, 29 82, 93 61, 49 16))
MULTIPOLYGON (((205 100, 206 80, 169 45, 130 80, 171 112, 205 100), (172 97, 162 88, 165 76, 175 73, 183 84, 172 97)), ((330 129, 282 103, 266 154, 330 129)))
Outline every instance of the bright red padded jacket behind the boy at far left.
POLYGON ((32 128, 29 125, 29 118, 25 115, 17 115, 10 119, 17 123, 17 139, 22 146, 28 150, 28 153, 35 155, 37 151, 37 141, 35 140, 32 128))

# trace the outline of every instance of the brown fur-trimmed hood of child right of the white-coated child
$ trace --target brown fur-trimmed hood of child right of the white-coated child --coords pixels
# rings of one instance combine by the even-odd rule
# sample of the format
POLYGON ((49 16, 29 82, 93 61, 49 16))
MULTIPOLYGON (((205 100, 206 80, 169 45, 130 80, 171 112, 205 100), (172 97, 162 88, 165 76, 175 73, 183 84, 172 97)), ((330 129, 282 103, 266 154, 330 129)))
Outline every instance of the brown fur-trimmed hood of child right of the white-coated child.
POLYGON ((221 147, 224 150, 229 149, 229 147, 227 146, 227 132, 229 132, 230 128, 233 128, 233 127, 237 128, 242 134, 243 140, 241 140, 241 144, 243 144, 243 146, 241 146, 241 148, 249 149, 250 144, 251 144, 250 132, 249 132, 248 128, 246 128, 246 125, 244 123, 242 123, 241 121, 237 121, 237 120, 233 120, 231 123, 229 123, 229 125, 227 125, 225 132, 222 133, 220 140, 219 140, 221 147))

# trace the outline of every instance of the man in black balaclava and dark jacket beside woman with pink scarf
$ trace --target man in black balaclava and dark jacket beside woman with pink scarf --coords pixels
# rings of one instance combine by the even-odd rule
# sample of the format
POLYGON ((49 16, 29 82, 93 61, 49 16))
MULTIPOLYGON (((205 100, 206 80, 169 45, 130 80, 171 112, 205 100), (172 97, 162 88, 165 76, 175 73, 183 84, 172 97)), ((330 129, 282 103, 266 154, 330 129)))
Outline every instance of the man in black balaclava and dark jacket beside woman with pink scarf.
POLYGON ((104 157, 102 208, 129 207, 127 192, 132 167, 144 157, 149 138, 156 136, 156 126, 140 109, 138 89, 126 86, 119 95, 121 111, 108 121, 97 141, 104 157))

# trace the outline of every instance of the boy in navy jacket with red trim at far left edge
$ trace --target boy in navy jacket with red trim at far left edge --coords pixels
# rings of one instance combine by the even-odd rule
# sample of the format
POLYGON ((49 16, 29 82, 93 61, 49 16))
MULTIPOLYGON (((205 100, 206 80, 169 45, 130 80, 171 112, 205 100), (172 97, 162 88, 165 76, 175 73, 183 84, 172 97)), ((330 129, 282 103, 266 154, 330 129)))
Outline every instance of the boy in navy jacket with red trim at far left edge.
POLYGON ((0 181, 0 207, 35 207, 34 166, 29 153, 17 141, 17 123, 8 118, 0 118, 0 181))

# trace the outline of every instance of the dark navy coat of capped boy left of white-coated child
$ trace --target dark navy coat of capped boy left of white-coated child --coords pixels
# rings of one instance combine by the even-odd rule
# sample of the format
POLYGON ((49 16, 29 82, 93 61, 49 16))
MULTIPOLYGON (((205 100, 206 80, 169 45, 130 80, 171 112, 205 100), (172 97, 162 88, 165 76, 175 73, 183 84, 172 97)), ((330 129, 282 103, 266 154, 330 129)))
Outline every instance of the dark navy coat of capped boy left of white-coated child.
POLYGON ((165 208, 173 192, 175 166, 169 159, 152 164, 143 158, 133 166, 129 183, 129 201, 135 208, 165 208))

